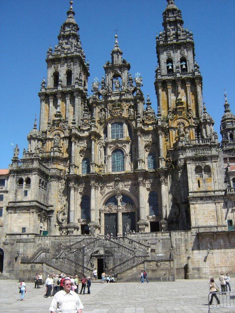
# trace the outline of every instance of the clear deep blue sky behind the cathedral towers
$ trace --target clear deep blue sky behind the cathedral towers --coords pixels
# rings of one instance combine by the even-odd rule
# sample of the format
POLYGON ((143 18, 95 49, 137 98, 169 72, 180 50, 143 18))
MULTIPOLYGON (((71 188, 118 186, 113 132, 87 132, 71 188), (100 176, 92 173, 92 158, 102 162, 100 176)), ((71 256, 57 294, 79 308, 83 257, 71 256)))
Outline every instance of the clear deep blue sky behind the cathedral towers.
MULTIPOLYGON (((154 90, 156 33, 163 29, 165 0, 74 0, 75 20, 86 58, 90 62, 89 87, 101 80, 103 65, 111 59, 115 29, 123 58, 134 76, 140 72, 142 90, 156 110, 154 90)), ((219 134, 224 111, 224 91, 235 113, 235 0, 175 0, 184 26, 191 29, 196 61, 203 76, 203 97, 219 134)), ((18 143, 20 157, 27 149, 27 134, 39 120, 38 92, 47 76, 45 62, 49 45, 58 43, 60 26, 66 20, 69 0, 0 1, 0 168, 13 156, 11 143, 18 143)), ((89 91, 90 93, 90 91, 89 91)), ((219 140, 221 137, 219 135, 219 140)))

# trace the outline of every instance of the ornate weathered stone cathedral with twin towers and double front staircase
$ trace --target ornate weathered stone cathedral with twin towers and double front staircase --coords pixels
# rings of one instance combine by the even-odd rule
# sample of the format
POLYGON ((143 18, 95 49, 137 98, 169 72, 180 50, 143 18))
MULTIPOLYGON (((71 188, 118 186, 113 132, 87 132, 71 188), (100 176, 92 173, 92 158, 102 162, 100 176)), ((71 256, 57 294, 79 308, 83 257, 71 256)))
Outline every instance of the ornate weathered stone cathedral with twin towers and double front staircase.
POLYGON ((235 274, 235 115, 222 141, 202 98, 191 31, 167 0, 156 36, 157 112, 115 35, 88 95, 89 62, 70 2, 47 50, 40 122, 0 170, 0 275, 63 271, 134 280, 235 274))

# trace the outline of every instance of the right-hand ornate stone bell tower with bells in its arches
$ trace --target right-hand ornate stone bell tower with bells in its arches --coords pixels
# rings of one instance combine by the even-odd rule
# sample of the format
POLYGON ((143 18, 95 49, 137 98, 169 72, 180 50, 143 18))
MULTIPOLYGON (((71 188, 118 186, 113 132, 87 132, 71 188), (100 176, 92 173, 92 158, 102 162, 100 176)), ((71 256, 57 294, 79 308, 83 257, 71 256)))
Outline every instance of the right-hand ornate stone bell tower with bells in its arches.
POLYGON ((203 118, 202 76, 195 61, 193 34, 184 28, 181 11, 167 0, 163 27, 156 36, 158 66, 155 89, 163 131, 163 157, 176 147, 210 137, 203 118))

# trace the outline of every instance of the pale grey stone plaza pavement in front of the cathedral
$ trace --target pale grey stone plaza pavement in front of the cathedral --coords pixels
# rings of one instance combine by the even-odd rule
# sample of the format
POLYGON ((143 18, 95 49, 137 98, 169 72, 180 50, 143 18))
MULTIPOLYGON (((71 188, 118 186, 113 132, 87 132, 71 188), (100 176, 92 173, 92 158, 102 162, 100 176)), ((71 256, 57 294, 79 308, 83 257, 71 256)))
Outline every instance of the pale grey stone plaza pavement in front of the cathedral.
MULTIPOLYGON (((209 279, 102 284, 94 282, 91 294, 81 294, 83 313, 208 313, 209 279)), ((218 282, 216 282, 218 284, 218 282)), ((233 290, 233 281, 232 281, 233 290)), ((45 287, 34 289, 26 283, 25 301, 20 301, 19 282, 0 280, 0 313, 48 313, 51 298, 45 287)), ((81 287, 81 285, 80 285, 81 287)), ((87 290, 86 290, 87 292, 87 290)), ((215 299, 213 300, 215 302, 215 299)), ((235 313, 235 308, 214 309, 211 313, 235 313)))

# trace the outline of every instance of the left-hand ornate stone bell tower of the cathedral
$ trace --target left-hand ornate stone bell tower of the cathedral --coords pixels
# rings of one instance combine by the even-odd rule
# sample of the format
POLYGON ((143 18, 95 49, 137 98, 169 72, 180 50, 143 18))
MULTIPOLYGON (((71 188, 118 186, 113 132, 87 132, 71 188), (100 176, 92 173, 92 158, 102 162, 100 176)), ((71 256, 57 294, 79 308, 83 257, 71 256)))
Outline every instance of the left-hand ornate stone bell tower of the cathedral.
POLYGON ((68 156, 68 132, 79 125, 89 77, 89 63, 81 47, 79 27, 70 1, 67 19, 60 28, 58 44, 47 50, 47 82, 43 79, 39 97, 41 100, 40 132, 47 141, 42 149, 47 153, 68 156))

